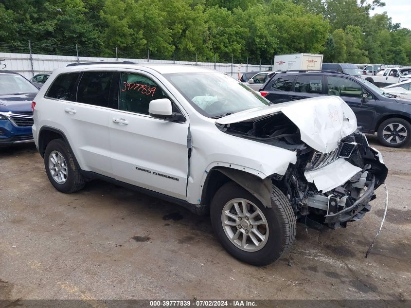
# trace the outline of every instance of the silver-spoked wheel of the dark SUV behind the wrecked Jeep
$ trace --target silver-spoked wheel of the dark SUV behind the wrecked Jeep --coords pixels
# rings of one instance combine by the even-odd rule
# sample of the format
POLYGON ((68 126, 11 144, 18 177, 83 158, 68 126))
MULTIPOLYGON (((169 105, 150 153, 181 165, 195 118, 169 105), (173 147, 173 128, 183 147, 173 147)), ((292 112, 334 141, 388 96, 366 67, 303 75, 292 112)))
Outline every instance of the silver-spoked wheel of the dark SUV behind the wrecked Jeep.
POLYGON ((411 124, 401 118, 391 118, 380 124, 378 141, 385 146, 402 147, 411 142, 411 124))

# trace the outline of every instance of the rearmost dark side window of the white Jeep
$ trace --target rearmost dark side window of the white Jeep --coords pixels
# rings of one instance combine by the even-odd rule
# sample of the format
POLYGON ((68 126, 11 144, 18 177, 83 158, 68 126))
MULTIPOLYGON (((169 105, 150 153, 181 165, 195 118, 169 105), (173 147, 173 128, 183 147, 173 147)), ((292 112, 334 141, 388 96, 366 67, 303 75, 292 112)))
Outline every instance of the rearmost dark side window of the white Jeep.
POLYGON ((58 75, 53 81, 46 96, 50 98, 62 99, 65 101, 75 102, 76 84, 79 77, 79 72, 72 72, 58 75))

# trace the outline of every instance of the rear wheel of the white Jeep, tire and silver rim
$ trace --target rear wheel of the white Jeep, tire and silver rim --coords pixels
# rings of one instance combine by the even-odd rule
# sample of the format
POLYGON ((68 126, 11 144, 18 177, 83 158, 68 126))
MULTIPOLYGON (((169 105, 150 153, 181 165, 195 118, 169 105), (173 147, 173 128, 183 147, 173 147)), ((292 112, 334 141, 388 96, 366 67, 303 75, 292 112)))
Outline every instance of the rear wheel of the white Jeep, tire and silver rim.
POLYGON ((54 139, 46 146, 44 166, 49 181, 58 191, 72 193, 82 189, 86 183, 63 139, 54 139))

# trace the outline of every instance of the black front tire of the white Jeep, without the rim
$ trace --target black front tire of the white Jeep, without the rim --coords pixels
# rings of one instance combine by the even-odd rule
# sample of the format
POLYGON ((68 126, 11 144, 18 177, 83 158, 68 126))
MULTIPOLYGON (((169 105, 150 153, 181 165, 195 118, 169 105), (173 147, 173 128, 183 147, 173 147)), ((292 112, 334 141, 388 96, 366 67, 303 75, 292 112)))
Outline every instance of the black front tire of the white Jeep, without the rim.
POLYGON ((210 205, 211 223, 218 240, 224 249, 240 261, 256 265, 268 265, 281 258, 295 239, 297 222, 286 196, 272 186, 271 208, 265 207, 257 198, 235 182, 228 182, 215 193, 210 205), (224 206, 232 199, 247 199, 264 214, 268 223, 268 239, 258 251, 247 252, 235 246, 224 232, 221 214, 224 206))

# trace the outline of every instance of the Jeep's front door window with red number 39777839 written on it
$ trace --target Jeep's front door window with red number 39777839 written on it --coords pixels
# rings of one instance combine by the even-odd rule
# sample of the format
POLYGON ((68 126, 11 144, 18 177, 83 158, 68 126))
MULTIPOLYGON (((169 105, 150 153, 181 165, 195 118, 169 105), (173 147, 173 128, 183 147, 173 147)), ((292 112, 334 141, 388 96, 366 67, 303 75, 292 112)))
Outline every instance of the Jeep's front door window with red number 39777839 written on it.
POLYGON ((148 105, 154 99, 169 98, 150 78, 135 73, 122 73, 119 109, 148 114, 148 105))

